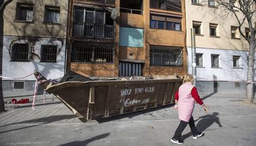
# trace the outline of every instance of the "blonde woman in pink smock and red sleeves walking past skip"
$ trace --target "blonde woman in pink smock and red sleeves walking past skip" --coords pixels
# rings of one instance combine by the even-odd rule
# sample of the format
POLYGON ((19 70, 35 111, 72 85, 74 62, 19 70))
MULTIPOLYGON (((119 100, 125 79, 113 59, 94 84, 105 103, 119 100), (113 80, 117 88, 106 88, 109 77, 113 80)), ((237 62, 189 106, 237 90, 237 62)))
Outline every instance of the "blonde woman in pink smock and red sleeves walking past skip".
POLYGON ((179 87, 179 90, 175 94, 175 105, 174 108, 178 109, 179 113, 179 126, 177 127, 171 142, 175 144, 182 144, 181 133, 189 124, 193 138, 197 139, 203 135, 202 132, 198 132, 195 128, 195 121, 192 116, 195 102, 202 105, 205 112, 208 112, 208 108, 203 104, 203 101, 200 99, 197 88, 193 85, 194 78, 192 75, 186 75, 183 79, 183 84, 179 87))

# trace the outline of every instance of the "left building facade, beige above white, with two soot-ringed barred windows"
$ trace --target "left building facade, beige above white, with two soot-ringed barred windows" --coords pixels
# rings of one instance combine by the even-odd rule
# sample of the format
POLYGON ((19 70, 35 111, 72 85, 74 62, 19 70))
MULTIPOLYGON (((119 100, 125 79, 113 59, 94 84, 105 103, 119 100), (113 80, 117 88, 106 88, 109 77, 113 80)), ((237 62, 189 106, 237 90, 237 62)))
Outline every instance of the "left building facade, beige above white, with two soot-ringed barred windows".
POLYGON ((68 1, 14 0, 4 10, 2 75, 6 95, 33 92, 34 70, 46 78, 64 75, 68 1))

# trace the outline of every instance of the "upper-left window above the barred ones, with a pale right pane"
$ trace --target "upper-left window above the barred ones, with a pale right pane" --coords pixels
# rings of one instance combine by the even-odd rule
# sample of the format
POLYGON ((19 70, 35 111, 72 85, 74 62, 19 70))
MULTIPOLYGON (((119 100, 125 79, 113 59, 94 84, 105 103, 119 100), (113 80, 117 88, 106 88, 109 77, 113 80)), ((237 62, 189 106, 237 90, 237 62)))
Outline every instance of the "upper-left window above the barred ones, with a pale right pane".
POLYGON ((33 4, 17 3, 15 20, 33 21, 33 4))

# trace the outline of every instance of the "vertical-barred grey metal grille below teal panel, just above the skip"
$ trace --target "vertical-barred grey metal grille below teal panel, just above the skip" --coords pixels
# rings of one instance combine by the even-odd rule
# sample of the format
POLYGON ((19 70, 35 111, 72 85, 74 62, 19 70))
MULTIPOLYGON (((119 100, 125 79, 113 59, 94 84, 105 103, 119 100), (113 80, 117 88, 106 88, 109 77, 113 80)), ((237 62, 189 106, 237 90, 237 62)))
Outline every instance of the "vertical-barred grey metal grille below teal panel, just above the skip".
POLYGON ((119 76, 142 76, 142 64, 119 62, 119 76))

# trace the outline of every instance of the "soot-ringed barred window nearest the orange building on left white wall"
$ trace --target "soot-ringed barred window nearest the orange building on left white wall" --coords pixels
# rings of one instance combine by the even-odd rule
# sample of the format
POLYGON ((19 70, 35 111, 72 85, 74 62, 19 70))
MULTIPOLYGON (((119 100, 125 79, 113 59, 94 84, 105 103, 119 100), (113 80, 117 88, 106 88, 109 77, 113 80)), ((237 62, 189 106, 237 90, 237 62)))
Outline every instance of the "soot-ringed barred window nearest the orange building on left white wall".
POLYGON ((41 62, 56 62, 57 46, 42 45, 41 46, 41 62))

